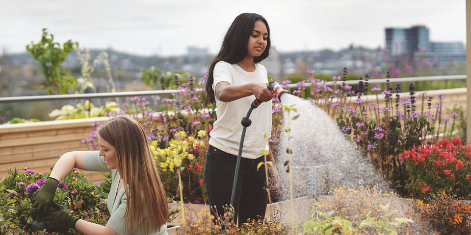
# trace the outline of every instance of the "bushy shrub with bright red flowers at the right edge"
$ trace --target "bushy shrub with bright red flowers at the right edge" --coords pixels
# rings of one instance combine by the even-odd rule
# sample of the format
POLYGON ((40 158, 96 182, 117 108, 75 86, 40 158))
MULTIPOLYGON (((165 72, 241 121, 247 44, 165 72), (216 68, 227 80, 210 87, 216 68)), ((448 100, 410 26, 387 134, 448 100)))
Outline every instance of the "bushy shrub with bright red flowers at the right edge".
POLYGON ((424 142, 402 153, 407 165, 410 181, 406 189, 422 200, 437 192, 445 191, 457 197, 471 198, 471 149, 461 139, 453 138, 424 142))

